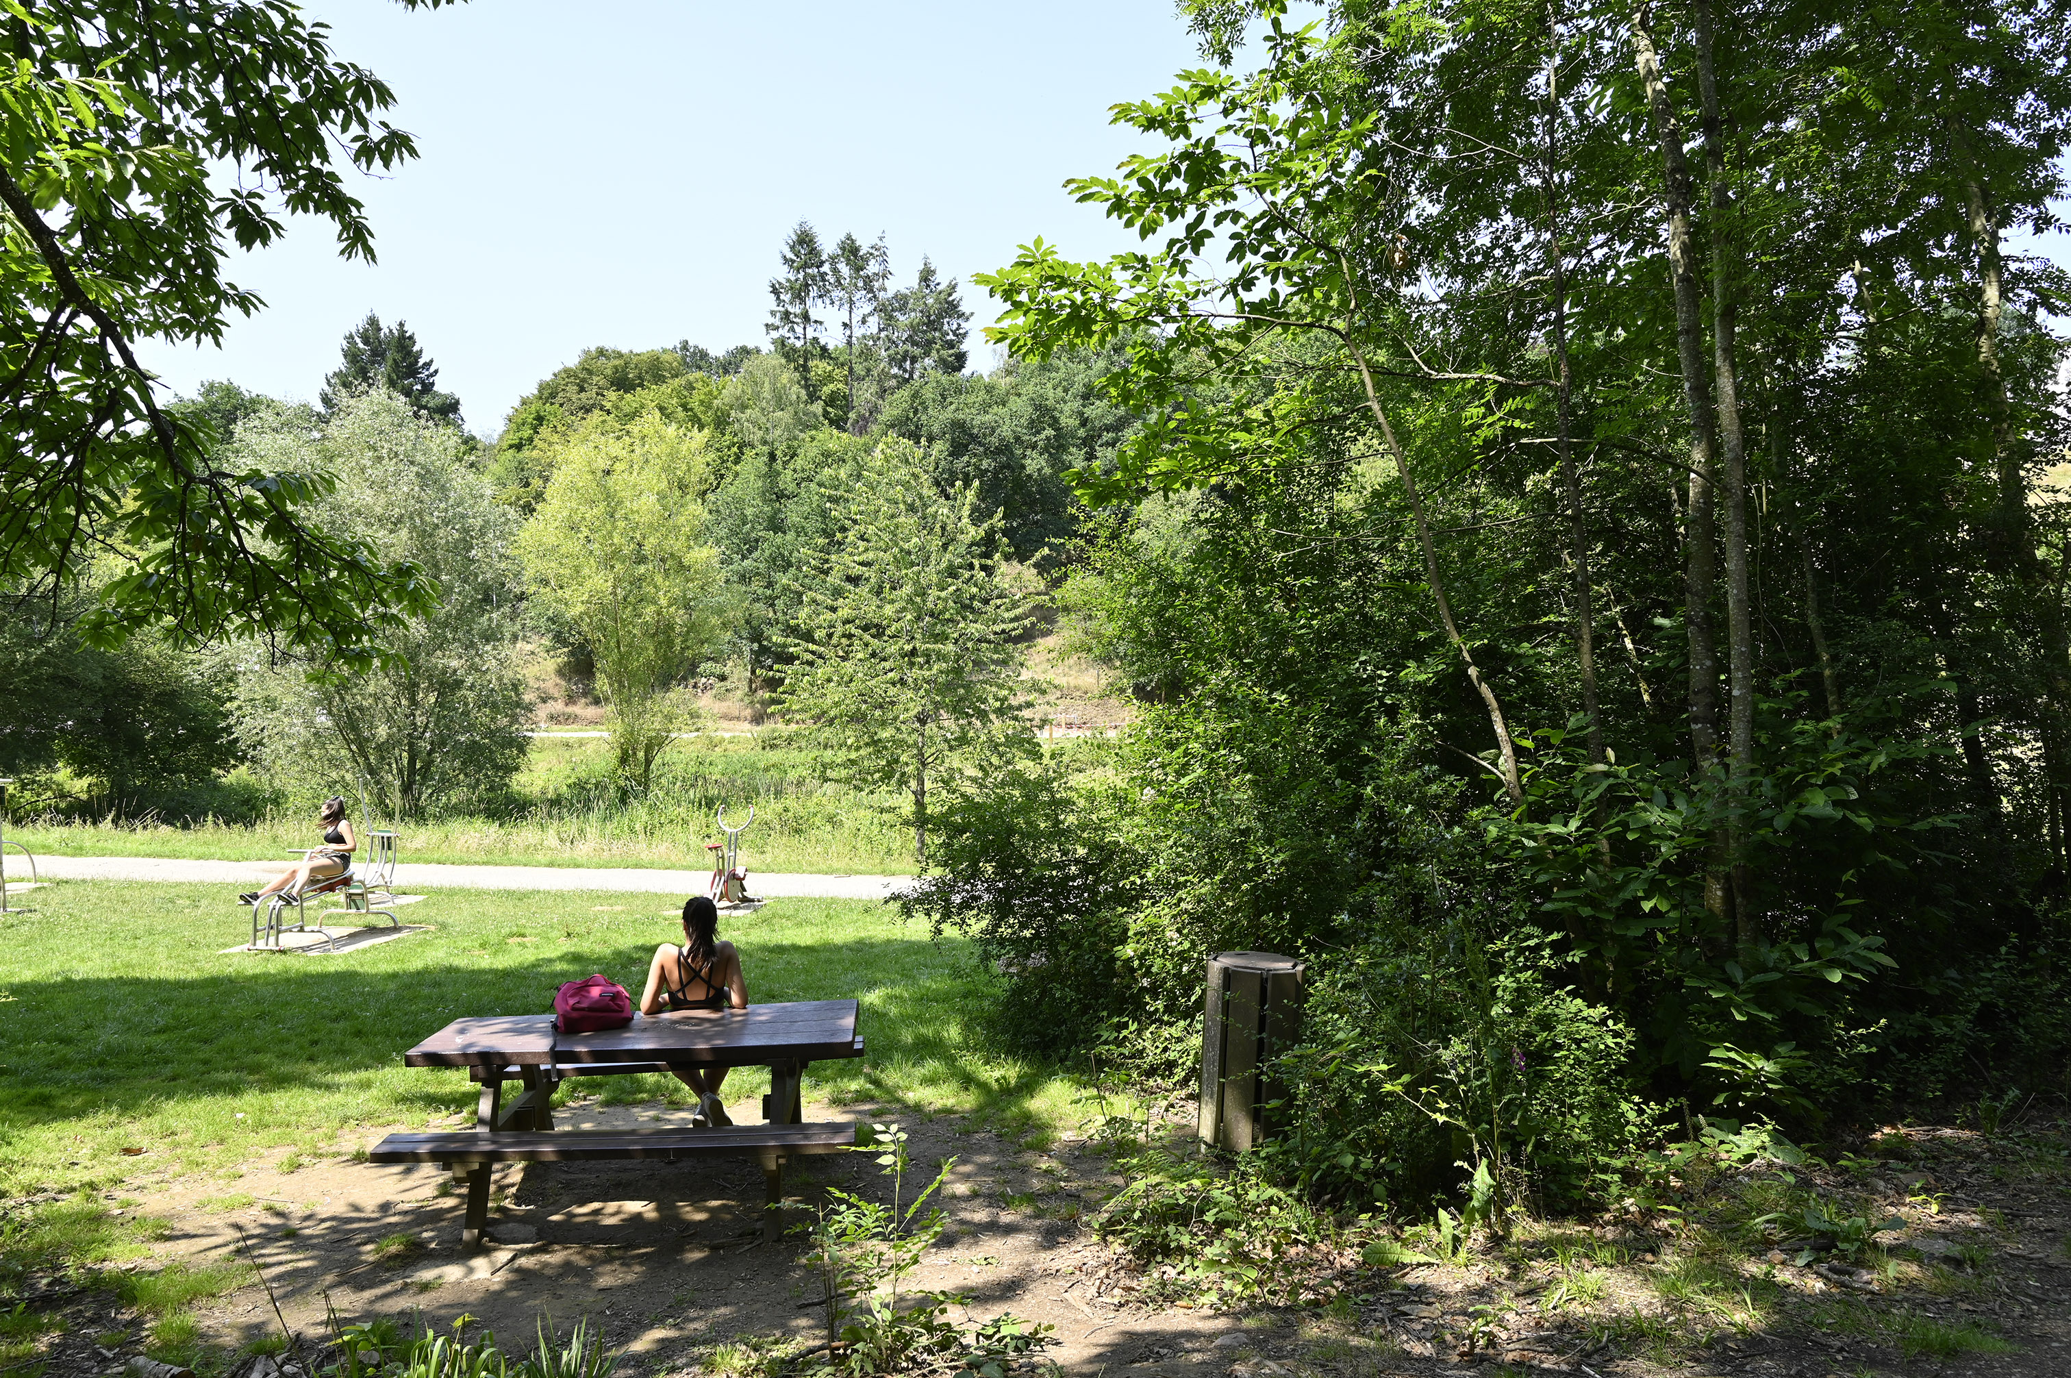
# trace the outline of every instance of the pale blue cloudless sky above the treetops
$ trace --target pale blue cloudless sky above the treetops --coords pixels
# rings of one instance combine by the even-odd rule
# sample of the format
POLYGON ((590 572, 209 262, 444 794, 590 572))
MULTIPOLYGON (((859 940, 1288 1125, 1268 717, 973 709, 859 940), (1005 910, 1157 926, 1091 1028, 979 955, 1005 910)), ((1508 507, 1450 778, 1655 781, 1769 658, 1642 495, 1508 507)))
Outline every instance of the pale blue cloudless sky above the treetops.
MULTIPOLYGON (((468 427, 590 344, 762 344, 777 247, 884 234, 965 284, 1042 234, 1135 242, 1058 184, 1133 151, 1108 106, 1199 66, 1172 0, 708 4, 476 0, 406 12, 317 0, 333 50, 379 73, 422 157, 358 180, 379 263, 317 222, 234 263, 267 309, 222 350, 147 350, 178 392, 228 377, 315 398, 369 309, 410 323, 468 427)), ((990 365, 973 342, 973 363, 990 365)))

